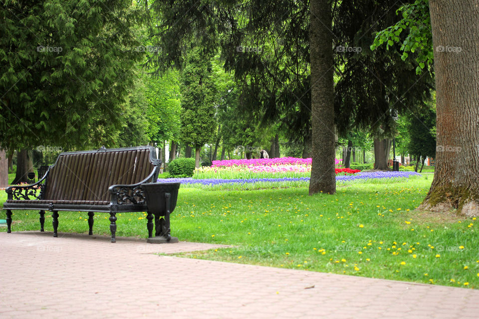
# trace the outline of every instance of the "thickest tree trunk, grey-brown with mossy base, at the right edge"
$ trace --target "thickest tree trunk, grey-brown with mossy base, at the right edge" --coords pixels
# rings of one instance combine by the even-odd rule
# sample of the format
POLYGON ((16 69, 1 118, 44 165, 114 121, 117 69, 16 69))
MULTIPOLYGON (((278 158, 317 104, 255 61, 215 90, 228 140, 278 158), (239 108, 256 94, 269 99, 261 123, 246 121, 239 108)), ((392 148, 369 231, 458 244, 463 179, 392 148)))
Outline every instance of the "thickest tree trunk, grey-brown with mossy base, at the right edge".
POLYGON ((479 3, 430 0, 437 152, 419 209, 479 215, 479 3), (459 51, 460 50, 460 51, 459 51))

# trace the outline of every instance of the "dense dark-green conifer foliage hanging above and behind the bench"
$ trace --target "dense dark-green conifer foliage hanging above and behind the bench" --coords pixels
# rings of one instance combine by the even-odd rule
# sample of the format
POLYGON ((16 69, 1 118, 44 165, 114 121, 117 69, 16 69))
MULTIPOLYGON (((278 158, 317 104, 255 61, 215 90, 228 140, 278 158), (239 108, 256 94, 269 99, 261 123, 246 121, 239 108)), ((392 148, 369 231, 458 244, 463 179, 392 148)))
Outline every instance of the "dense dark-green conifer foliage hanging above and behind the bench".
POLYGON ((134 68, 129 0, 3 1, 0 147, 93 148, 117 143, 134 68))

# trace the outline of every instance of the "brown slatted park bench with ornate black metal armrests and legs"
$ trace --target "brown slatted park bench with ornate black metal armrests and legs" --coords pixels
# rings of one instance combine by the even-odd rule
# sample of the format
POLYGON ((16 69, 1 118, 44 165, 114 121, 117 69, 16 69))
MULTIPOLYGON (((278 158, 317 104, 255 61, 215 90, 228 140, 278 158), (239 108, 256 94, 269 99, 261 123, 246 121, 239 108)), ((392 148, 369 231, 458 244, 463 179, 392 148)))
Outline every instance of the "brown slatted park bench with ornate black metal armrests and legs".
MULTIPOLYGON (((152 237, 153 218, 163 223, 162 235, 169 236, 169 216, 148 211, 142 184, 156 182, 161 160, 151 146, 64 152, 48 167, 38 182, 6 188, 7 232, 11 232, 11 210, 39 210, 40 231, 44 231, 45 211, 53 217, 53 237, 57 237, 59 211, 88 212, 89 235, 92 235, 95 212, 110 214, 111 242, 115 242, 116 213, 148 212, 148 237, 152 237), (165 232, 168 231, 168 234, 165 232)), ((177 194, 178 189, 176 189, 177 194)), ((168 195, 169 196, 169 195, 168 195)), ((167 197, 166 200, 169 201, 167 197)), ((174 198, 176 201, 176 198, 174 198)), ((167 202, 167 207, 173 206, 167 202)), ((173 210, 173 209, 171 209, 173 210)), ((165 212, 163 212, 165 213, 165 212)), ((168 214, 170 209, 168 209, 168 214)), ((158 226, 157 226, 158 233, 158 226)))

